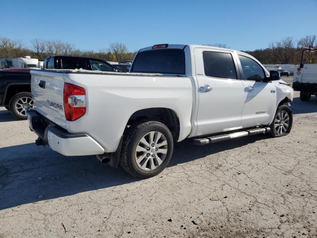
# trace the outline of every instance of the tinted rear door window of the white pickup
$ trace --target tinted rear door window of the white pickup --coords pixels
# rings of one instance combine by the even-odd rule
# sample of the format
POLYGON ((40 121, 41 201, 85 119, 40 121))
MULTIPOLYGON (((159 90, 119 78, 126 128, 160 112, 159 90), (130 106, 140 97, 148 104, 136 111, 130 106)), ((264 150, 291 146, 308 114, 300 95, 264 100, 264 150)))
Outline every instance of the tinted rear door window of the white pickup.
POLYGON ((204 51, 203 59, 206 76, 237 79, 236 68, 231 54, 204 51))

